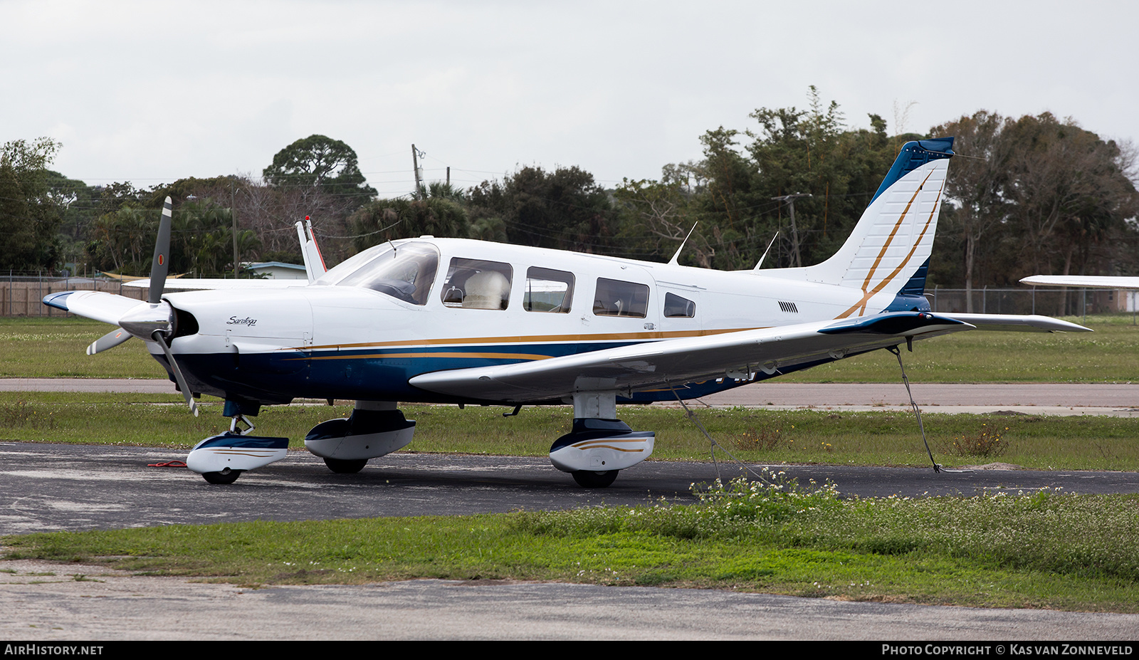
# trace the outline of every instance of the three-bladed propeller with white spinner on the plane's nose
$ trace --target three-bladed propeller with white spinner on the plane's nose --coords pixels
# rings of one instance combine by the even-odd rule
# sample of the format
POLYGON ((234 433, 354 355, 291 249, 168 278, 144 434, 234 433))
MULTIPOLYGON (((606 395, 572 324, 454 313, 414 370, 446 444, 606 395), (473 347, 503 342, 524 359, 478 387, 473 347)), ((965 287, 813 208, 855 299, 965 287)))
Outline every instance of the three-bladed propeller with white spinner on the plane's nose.
POLYGON ((150 293, 147 302, 136 305, 118 319, 118 327, 91 342, 87 347, 87 355, 103 352, 117 347, 132 336, 144 341, 155 342, 162 348, 174 372, 178 388, 186 398, 186 404, 190 407, 194 416, 198 416, 197 404, 194 402, 194 393, 186 384, 182 369, 179 368, 170 351, 167 336, 174 333, 174 308, 169 302, 162 300, 163 288, 166 286, 166 275, 170 272, 170 226, 173 221, 173 205, 170 197, 162 206, 162 219, 158 221, 158 239, 154 244, 154 259, 150 262, 150 293))

